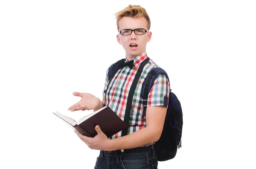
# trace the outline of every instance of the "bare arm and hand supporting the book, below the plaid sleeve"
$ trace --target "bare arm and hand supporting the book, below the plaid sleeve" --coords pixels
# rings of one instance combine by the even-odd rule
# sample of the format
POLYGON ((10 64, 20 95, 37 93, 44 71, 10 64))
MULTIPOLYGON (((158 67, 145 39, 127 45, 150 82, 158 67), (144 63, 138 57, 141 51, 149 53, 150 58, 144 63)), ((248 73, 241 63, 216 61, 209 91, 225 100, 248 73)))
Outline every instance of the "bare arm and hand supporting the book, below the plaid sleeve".
POLYGON ((166 109, 164 106, 148 107, 146 110, 147 126, 144 129, 113 140, 108 139, 98 125, 95 127, 98 135, 93 138, 81 135, 77 130, 75 132, 90 149, 113 151, 140 147, 159 140, 163 130, 166 109))

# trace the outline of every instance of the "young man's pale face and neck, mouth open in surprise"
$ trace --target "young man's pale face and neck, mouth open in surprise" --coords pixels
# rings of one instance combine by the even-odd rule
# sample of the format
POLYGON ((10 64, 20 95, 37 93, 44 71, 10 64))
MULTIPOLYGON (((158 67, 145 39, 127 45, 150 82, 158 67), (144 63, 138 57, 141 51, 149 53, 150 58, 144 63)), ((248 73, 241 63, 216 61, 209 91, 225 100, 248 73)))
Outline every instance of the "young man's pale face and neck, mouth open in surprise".
MULTIPOLYGON (((138 29, 147 28, 147 20, 144 17, 133 18, 123 17, 119 20, 119 32, 122 29, 138 29)), ((134 31, 130 35, 117 34, 117 42, 125 49, 126 58, 131 60, 132 58, 142 54, 146 50, 147 42, 151 40, 151 32, 146 32, 142 35, 137 35, 134 31), (136 47, 131 47, 131 44, 136 44, 136 47)))

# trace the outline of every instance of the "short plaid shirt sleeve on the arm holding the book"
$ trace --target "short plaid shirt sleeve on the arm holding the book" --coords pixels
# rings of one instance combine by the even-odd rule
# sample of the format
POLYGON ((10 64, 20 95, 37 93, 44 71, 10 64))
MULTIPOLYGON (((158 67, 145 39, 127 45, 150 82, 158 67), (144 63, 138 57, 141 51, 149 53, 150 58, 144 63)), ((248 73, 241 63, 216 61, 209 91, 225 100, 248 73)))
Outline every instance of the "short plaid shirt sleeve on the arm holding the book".
POLYGON ((165 106, 168 107, 169 93, 171 91, 170 83, 165 75, 159 74, 151 91, 148 94, 149 106, 165 106))

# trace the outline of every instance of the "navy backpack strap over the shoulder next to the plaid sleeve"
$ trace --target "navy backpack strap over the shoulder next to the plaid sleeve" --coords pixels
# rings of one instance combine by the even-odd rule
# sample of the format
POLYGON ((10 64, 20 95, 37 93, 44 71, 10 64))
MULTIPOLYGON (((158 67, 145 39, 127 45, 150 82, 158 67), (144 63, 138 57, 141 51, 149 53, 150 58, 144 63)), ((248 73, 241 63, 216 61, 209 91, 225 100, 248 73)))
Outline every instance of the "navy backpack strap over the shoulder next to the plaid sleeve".
MULTIPOLYGON (((146 114, 146 108, 147 108, 147 104, 148 104, 148 94, 154 84, 154 81, 156 80, 156 78, 158 77, 159 74, 164 74, 167 78, 167 80, 169 81, 169 77, 167 75, 167 73, 162 69, 162 68, 153 68, 148 72, 147 77, 145 78, 143 84, 142 84, 142 89, 141 89, 141 97, 143 99, 142 104, 143 104, 143 115, 142 118, 145 117, 146 114)), ((168 103, 166 103, 167 106, 168 103)))

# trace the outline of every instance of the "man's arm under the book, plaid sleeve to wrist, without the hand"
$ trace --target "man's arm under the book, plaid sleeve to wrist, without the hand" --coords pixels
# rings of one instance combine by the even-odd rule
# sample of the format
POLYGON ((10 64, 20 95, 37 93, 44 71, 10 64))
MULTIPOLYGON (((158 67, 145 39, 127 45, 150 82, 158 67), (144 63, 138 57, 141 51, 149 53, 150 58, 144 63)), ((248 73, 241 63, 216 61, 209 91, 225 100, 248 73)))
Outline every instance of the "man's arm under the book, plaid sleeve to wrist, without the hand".
POLYGON ((154 81, 148 94, 146 127, 124 137, 113 139, 110 149, 131 149, 156 142, 160 139, 166 117, 167 106, 164 97, 170 92, 170 83, 163 74, 154 81))

